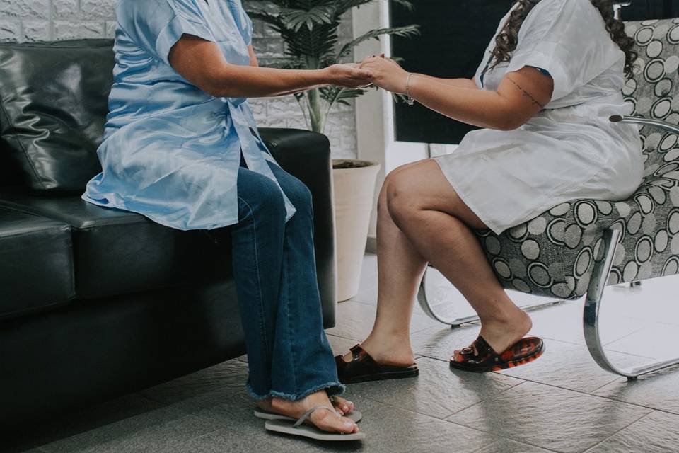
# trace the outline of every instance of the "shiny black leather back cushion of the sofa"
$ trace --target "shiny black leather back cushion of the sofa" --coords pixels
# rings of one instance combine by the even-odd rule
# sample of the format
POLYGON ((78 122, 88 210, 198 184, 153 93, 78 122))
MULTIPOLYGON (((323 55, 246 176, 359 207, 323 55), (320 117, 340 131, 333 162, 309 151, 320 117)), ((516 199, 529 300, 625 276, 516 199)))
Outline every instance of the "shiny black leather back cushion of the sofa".
POLYGON ((101 171, 112 68, 111 40, 0 44, 0 159, 30 189, 83 190, 101 171))

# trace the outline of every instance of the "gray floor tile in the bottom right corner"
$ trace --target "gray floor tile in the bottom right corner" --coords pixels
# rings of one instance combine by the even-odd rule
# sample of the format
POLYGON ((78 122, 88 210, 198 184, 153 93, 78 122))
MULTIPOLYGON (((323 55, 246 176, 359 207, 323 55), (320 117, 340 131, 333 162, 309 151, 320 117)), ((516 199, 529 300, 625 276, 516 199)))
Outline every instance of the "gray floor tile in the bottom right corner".
POLYGON ((587 453, 675 453, 679 450, 679 415, 653 412, 587 450, 587 453))

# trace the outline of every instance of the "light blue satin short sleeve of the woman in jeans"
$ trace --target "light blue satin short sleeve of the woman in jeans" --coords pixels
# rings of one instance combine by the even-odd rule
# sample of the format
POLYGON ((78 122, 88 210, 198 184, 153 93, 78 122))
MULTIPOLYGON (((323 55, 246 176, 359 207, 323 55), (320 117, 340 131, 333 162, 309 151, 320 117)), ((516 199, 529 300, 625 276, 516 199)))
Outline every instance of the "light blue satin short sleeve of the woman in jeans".
POLYGON ((215 42, 195 1, 135 0, 128 1, 125 10, 127 21, 124 22, 128 25, 125 27, 119 18, 122 25, 128 32, 134 30, 133 37, 141 47, 168 65, 170 50, 184 34, 215 42))

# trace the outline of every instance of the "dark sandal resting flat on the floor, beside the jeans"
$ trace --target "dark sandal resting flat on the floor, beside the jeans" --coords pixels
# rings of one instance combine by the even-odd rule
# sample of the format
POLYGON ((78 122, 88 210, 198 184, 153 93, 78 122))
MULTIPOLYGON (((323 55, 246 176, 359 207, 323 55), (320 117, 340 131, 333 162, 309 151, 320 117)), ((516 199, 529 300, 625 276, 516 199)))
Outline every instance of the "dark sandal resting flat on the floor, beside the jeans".
POLYGON ((402 377, 414 377, 419 374, 417 364, 407 367, 394 365, 380 365, 368 354, 361 345, 355 345, 352 349, 352 361, 344 362, 341 355, 335 357, 337 364, 337 376, 342 384, 356 384, 356 382, 381 381, 383 379, 400 379, 402 377))

